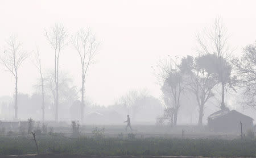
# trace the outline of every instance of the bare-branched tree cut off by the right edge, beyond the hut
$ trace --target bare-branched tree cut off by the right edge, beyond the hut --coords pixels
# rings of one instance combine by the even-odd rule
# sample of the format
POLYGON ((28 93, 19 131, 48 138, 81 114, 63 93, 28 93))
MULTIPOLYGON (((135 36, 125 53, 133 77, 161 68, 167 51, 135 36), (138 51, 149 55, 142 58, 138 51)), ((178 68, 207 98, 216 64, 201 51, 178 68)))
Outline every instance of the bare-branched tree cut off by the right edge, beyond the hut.
POLYGON ((243 88, 242 104, 245 107, 256 107, 256 42, 243 49, 241 59, 232 63, 238 77, 238 86, 243 88))

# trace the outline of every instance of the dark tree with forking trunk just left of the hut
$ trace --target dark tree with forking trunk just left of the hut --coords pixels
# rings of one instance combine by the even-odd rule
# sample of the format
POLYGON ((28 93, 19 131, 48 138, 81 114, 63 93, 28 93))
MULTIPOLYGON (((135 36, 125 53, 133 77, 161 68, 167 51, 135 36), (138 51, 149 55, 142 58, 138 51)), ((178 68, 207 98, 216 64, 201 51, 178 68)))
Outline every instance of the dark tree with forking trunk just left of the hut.
POLYGON ((199 106, 198 125, 202 126, 205 103, 213 97, 213 88, 218 81, 213 73, 205 69, 205 56, 194 59, 192 56, 184 57, 181 61, 181 71, 188 74, 188 89, 195 94, 199 106))

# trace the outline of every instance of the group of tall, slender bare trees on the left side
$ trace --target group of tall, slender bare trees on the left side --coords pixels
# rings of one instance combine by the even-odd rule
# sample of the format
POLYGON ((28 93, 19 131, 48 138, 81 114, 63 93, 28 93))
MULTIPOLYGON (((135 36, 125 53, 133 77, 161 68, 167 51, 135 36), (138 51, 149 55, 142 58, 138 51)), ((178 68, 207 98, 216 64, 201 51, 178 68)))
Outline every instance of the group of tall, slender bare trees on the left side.
MULTIPOLYGON (((46 39, 49 46, 52 48, 54 62, 53 72, 44 74, 43 65, 41 60, 41 54, 37 48, 34 52, 34 65, 38 69, 40 83, 40 93, 42 95, 42 120, 44 121, 45 109, 46 109, 46 97, 47 94, 51 95, 55 107, 55 121, 58 121, 59 104, 60 99, 67 99, 68 97, 77 96, 76 88, 69 86, 71 81, 67 76, 61 73, 59 69, 60 56, 65 47, 71 43, 74 50, 77 52, 79 62, 81 63, 81 121, 84 118, 84 106, 85 106, 85 78, 88 73, 88 69, 91 64, 94 63, 94 57, 97 53, 98 42, 95 35, 90 29, 81 28, 76 34, 69 37, 67 30, 61 24, 55 24, 54 27, 45 31, 46 39), (71 41, 71 42, 69 42, 71 41), (47 94, 46 94, 47 93, 47 94), (71 95, 67 95, 71 94, 71 95), (73 94, 73 95, 72 95, 73 94)), ((6 42, 6 49, 1 53, 2 68, 7 69, 15 78, 15 94, 14 94, 14 119, 18 119, 18 78, 19 69, 22 66, 24 60, 26 60, 30 53, 27 53, 22 49, 22 44, 16 38, 11 35, 6 42)))

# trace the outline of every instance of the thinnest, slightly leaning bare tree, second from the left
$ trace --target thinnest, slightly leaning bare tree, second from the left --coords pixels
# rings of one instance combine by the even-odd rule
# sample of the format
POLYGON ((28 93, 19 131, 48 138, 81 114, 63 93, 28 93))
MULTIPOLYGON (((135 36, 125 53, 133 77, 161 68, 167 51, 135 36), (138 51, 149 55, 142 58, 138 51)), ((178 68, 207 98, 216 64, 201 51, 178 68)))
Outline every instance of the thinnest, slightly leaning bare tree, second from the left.
POLYGON ((42 73, 42 64, 41 64, 41 57, 40 57, 40 53, 38 48, 36 49, 36 52, 34 53, 34 65, 36 67, 36 69, 38 69, 39 74, 40 74, 40 87, 41 87, 41 92, 42 92, 42 120, 44 122, 44 77, 43 77, 43 73, 42 73))

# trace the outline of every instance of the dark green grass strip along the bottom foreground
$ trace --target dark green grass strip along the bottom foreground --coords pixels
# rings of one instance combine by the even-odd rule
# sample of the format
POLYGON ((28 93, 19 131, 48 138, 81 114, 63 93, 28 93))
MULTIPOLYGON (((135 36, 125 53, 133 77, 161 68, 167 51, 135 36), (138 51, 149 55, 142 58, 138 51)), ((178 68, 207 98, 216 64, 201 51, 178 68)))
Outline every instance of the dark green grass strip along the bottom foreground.
MULTIPOLYGON (((40 153, 81 155, 256 156, 256 140, 63 138, 38 136, 40 153)), ((0 137, 0 155, 36 153, 31 136, 0 137)))

